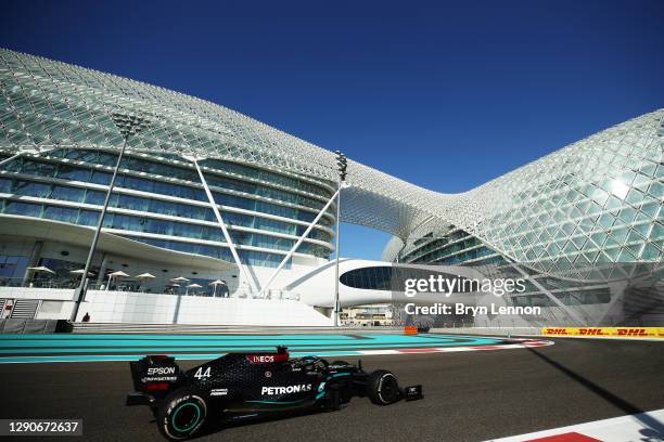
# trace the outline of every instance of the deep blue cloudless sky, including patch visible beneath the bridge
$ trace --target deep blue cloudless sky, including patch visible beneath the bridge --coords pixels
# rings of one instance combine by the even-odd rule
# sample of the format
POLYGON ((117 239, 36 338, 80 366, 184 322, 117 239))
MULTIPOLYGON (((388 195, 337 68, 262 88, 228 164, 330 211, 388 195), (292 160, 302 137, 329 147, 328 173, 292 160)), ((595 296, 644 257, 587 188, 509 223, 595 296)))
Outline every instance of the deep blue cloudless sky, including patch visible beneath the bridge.
MULTIPOLYGON (((657 0, 243 3, 5 0, 0 46, 200 96, 447 193, 664 107, 657 0)), ((388 235, 343 229, 343 256, 380 258, 388 235)))

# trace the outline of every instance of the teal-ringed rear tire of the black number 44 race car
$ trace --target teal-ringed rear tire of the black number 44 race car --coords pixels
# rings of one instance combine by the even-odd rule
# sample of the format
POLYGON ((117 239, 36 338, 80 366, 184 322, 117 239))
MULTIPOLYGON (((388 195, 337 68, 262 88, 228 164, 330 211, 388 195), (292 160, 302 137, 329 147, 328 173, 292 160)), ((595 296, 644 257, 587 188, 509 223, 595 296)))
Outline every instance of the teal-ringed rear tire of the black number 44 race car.
POLYGON ((162 435, 170 441, 183 441, 201 432, 207 418, 204 395, 183 387, 168 394, 156 413, 162 435))

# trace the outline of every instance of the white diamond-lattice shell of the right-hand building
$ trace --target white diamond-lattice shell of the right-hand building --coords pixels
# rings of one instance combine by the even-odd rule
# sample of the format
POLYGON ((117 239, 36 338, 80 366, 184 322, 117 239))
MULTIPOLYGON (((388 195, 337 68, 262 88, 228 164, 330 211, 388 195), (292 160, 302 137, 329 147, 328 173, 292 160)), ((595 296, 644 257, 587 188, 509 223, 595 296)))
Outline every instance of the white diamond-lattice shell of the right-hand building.
POLYGON ((443 217, 413 229, 405 245, 395 240, 384 258, 454 264, 495 255, 572 278, 629 276, 615 265, 615 274, 591 270, 661 262, 663 152, 664 110, 657 110, 458 195, 443 217), (445 255, 449 244, 469 238, 480 240, 459 250, 477 253, 445 255))

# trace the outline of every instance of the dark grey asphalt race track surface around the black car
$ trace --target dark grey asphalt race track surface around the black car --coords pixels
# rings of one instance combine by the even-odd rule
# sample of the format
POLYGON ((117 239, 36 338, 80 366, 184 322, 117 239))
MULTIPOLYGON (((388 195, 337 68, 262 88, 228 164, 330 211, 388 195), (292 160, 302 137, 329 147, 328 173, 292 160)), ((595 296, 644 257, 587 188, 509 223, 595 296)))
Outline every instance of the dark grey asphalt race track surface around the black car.
MULTIPOLYGON (((425 398, 385 407, 356 398, 339 412, 213 429, 197 440, 482 441, 664 408, 663 344, 557 339, 540 348, 362 356, 367 370, 422 384, 425 398)), ((162 440, 146 407, 124 405, 126 362, 2 364, 0 376, 3 418, 82 418, 85 440, 162 440)))

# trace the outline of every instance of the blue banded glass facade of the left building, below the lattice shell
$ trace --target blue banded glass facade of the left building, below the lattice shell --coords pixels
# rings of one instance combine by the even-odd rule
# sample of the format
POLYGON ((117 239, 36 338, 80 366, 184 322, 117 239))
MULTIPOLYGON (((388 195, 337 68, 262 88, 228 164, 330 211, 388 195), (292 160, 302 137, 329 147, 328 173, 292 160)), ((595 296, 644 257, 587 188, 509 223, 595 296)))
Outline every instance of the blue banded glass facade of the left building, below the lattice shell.
MULTIPOLYGON (((72 224, 94 225, 99 217, 98 210, 105 198, 105 192, 99 186, 90 186, 89 184, 106 185, 111 177, 110 173, 94 170, 94 167, 112 165, 117 161, 117 157, 104 152, 87 150, 58 150, 53 154, 39 158, 16 158, 4 165, 4 173, 0 176, 0 193, 7 196, 2 198, 0 212, 50 219, 72 224), (60 158, 76 160, 76 164, 65 164, 60 158), (17 198, 24 196, 39 198, 42 202, 27 202, 25 198, 17 200, 17 198), (72 206, 66 203, 80 203, 91 207, 80 208, 78 205, 72 206)), ((226 162, 226 169, 232 169, 228 161, 226 162)), ((216 161, 215 165, 217 164, 220 162, 216 161)), ((123 161, 123 174, 119 174, 116 180, 110 207, 131 211, 131 213, 110 211, 104 219, 104 227, 113 229, 117 231, 115 233, 135 240, 152 245, 159 244, 158 247, 216 258, 230 257, 230 250, 225 246, 220 247, 220 250, 224 251, 216 251, 215 247, 178 243, 174 238, 225 243, 221 230, 217 225, 213 210, 208 207, 203 188, 193 182, 197 174, 191 174, 192 171, 183 167, 153 162, 150 158, 144 158, 144 155, 141 158, 129 155, 123 161), (131 176, 129 174, 130 171, 138 171, 142 173, 142 177, 131 176), (145 177, 151 173, 156 174, 152 178, 145 177), (192 183, 166 183, 163 182, 166 176, 171 178, 177 176, 179 180, 191 180, 192 183), (125 191, 139 191, 140 194, 129 194, 125 191), (182 202, 165 199, 164 195, 177 196, 182 202), (158 214, 166 216, 168 219, 155 217, 158 214), (138 239, 136 235, 131 235, 132 232, 153 234, 153 237, 138 239), (168 238, 159 239, 159 236, 167 236, 168 238)), ((244 167, 241 170, 248 172, 252 169, 244 167)), ((213 172, 208 169, 206 176, 212 177, 213 172)), ((260 174, 260 178, 277 181, 274 179, 277 176, 277 173, 264 173, 260 174)), ((298 183, 290 177, 286 177, 286 179, 283 181, 284 183, 298 183)), ((278 265, 282 256, 270 253, 268 250, 290 250, 295 244, 295 236, 302 235, 306 230, 305 223, 312 221, 317 210, 320 210, 324 205, 324 203, 321 203, 323 196, 317 195, 316 198, 318 199, 314 204, 314 197, 297 194, 297 188, 286 192, 253 183, 245 185, 238 179, 210 179, 206 177, 206 180, 214 188, 213 195, 217 204, 244 209, 243 212, 224 210, 222 217, 230 227, 229 232, 235 245, 265 249, 265 251, 243 250, 239 253, 241 259, 254 265, 278 265), (269 197, 278 200, 278 203, 222 193, 218 191, 220 188, 269 197), (285 195, 290 196, 286 197, 285 195), (288 204, 288 206, 282 204, 288 204), (295 205, 298 207, 295 207, 295 205), (245 211, 251 211, 251 213, 245 211), (272 214, 279 217, 279 219, 265 218, 261 214, 272 214), (293 220, 297 222, 293 222, 293 220), (234 227, 246 227, 252 231, 240 231, 234 227), (291 237, 280 237, 272 234, 291 237)), ((282 183, 279 183, 279 185, 282 185, 282 183)), ((319 188, 322 190, 323 187, 319 188)), ((328 191, 328 194, 331 196, 330 191, 328 191)), ((320 229, 320 225, 332 225, 334 218, 331 213, 328 213, 322 220, 323 222, 308 234, 308 238, 323 244, 305 242, 297 250, 299 253, 329 258, 332 248, 332 231, 320 229)))

